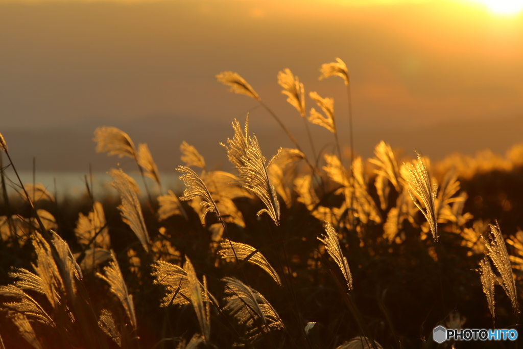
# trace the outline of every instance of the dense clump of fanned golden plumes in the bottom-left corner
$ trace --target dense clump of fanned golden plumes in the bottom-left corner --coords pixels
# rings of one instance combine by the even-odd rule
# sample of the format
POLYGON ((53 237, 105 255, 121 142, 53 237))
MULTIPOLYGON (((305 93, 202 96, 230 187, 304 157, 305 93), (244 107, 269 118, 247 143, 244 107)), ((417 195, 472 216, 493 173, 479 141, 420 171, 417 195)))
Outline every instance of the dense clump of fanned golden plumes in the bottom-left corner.
MULTIPOLYGON (((54 232, 51 232, 51 237, 53 245, 38 231, 33 232, 31 242, 37 255, 36 263, 32 264, 35 273, 23 268, 9 273, 16 280, 13 284, 1 286, 0 296, 16 298, 16 301, 4 302, 2 308, 17 313, 12 320, 26 339, 26 334, 32 332, 32 329, 24 323, 35 321, 43 324, 43 329, 58 331, 57 334, 64 336, 64 341, 70 341, 79 334, 73 334, 75 318, 79 327, 89 328, 88 320, 83 317, 79 302, 76 301, 76 282, 82 281, 82 274, 67 243, 54 232), (37 294, 38 297, 32 298, 30 294, 37 294), (46 298, 51 306, 49 313, 45 310, 48 308, 44 306, 46 302, 42 302, 46 298), (17 323, 18 320, 21 322, 17 323)), ((90 330, 91 333, 96 331, 92 328, 90 330)), ((85 337, 83 340, 86 340, 85 337)))

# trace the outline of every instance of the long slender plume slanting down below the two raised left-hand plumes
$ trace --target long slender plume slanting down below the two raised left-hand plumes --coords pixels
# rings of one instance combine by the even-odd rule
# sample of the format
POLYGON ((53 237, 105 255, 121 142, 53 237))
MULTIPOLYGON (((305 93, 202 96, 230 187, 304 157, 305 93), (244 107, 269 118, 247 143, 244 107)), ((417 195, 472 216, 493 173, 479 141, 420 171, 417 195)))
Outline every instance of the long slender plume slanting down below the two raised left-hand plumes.
POLYGON ((145 227, 142 208, 137 193, 129 181, 128 176, 124 174, 122 170, 115 170, 113 168, 109 174, 114 179, 111 183, 112 186, 118 190, 122 199, 121 205, 118 206, 122 220, 126 222, 136 234, 145 251, 149 252, 149 233, 147 233, 147 228, 145 227))

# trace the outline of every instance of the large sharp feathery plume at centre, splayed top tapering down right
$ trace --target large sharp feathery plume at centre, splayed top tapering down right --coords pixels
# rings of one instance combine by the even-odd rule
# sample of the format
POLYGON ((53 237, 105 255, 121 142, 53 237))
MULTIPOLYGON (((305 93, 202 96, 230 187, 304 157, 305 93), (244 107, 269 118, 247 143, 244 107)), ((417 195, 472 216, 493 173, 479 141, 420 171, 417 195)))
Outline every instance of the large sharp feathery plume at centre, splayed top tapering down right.
POLYGON ((245 122, 245 134, 242 132, 240 123, 234 121, 233 139, 227 139, 229 147, 223 143, 222 145, 227 149, 229 161, 240 172, 240 180, 237 183, 251 190, 264 203, 266 208, 259 210, 257 215, 267 212, 278 226, 280 224, 280 204, 276 196, 276 189, 270 184, 267 173, 267 167, 276 159, 278 154, 267 162, 261 154, 256 136, 248 135, 248 117, 245 122))

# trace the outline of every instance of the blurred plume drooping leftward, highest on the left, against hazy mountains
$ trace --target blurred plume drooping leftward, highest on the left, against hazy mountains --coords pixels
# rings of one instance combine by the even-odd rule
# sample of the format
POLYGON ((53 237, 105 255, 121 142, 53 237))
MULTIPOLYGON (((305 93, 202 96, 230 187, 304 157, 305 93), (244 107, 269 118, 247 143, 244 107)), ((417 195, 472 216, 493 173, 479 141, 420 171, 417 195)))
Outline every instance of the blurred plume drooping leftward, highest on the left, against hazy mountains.
POLYGON ((118 155, 118 157, 129 156, 136 159, 134 144, 127 133, 116 127, 98 127, 93 138, 97 153, 107 155, 118 155))

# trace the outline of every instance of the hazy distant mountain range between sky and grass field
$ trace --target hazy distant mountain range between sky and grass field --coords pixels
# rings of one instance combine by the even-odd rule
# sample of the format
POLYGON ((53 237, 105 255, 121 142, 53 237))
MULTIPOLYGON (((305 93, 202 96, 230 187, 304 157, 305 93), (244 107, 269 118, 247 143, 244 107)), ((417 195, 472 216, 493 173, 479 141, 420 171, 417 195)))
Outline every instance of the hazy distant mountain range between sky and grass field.
MULTIPOLYGON (((244 119, 241 120, 243 125, 244 119)), ((98 126, 115 126, 127 132, 135 145, 147 143, 160 171, 173 171, 181 163, 179 145, 187 141, 205 157, 211 169, 230 170, 224 148, 232 137, 231 123, 218 122, 197 117, 153 116, 126 122, 83 121, 62 127, 46 129, 3 129, 13 161, 20 170, 32 169, 36 157, 37 171, 85 171, 92 165, 93 171, 107 171, 119 163, 123 168, 133 168, 128 158, 106 156, 95 152, 92 141, 93 131, 98 126)), ((314 137, 316 151, 327 145, 326 151, 333 151, 334 138, 328 131, 316 125, 309 125, 314 137)), ((302 148, 310 151, 309 141, 303 123, 299 118, 289 125, 302 148)), ((339 122, 342 143, 348 144, 348 130, 344 120, 339 122)), ((292 143, 273 120, 252 118, 250 132, 259 139, 265 157, 270 158, 281 147, 292 147, 292 143)), ((501 120, 479 120, 477 122, 440 123, 422 128, 388 128, 376 126, 358 132, 355 130, 355 148, 363 157, 372 156, 374 145, 380 140, 392 148, 403 148, 406 154, 416 150, 433 160, 441 159, 452 152, 473 154, 489 148, 504 153, 511 145, 523 142, 523 117, 501 120)), ((412 152, 413 154, 413 152, 412 152)))

